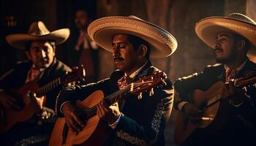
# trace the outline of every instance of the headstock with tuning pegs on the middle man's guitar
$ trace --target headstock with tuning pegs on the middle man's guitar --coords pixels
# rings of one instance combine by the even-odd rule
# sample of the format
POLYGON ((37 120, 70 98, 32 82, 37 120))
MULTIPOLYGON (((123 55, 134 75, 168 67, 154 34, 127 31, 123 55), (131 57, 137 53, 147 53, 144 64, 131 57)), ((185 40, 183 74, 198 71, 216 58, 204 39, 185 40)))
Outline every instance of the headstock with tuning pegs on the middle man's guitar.
POLYGON ((164 72, 154 72, 147 77, 143 77, 136 82, 132 82, 130 93, 141 94, 143 91, 150 91, 151 93, 154 93, 153 88, 158 85, 166 84, 164 81, 166 77, 167 76, 164 72))

